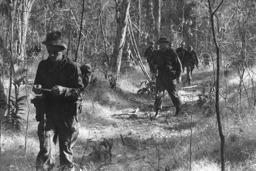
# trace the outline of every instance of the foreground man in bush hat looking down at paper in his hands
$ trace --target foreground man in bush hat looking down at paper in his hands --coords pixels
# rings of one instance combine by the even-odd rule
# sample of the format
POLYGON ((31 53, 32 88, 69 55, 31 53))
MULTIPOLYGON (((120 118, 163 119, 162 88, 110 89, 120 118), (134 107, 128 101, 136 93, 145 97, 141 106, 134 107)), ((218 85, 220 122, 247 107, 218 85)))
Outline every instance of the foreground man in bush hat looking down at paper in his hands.
POLYGON ((36 158, 37 171, 52 171, 55 166, 57 137, 61 171, 75 171, 73 147, 78 137, 77 114, 85 90, 77 63, 63 56, 67 45, 62 34, 54 31, 42 42, 49 54, 38 64, 32 91, 42 94, 41 118, 37 118, 40 151, 36 158))

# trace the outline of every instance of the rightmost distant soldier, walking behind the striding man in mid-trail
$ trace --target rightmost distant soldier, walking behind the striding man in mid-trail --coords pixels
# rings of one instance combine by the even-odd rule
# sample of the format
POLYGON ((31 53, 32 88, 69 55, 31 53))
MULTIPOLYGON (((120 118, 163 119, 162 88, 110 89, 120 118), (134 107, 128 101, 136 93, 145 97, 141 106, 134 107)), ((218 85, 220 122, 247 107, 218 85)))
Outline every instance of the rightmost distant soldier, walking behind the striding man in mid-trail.
POLYGON ((195 68, 195 65, 199 67, 198 64, 199 62, 197 52, 193 50, 192 46, 189 46, 182 60, 182 66, 187 68, 187 80, 189 85, 191 84, 192 80, 192 72, 195 68))

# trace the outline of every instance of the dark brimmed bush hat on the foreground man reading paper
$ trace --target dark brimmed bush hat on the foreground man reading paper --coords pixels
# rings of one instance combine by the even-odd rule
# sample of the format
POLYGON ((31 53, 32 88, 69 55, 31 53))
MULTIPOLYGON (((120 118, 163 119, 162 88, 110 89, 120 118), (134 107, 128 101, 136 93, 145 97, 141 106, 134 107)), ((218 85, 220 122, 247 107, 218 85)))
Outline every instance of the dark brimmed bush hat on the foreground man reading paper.
POLYGON ((65 49, 67 48, 67 45, 63 42, 63 37, 59 31, 54 31, 46 35, 46 40, 42 42, 42 44, 62 46, 65 49))

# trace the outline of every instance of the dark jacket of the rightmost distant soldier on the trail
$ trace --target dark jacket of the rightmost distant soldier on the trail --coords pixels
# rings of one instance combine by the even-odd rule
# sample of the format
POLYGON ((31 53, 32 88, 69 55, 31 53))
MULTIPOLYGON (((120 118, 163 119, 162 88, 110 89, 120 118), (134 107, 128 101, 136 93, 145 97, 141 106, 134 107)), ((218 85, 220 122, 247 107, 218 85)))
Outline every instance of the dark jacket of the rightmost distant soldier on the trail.
POLYGON ((198 55, 195 50, 187 50, 182 60, 182 66, 195 66, 198 65, 198 55))

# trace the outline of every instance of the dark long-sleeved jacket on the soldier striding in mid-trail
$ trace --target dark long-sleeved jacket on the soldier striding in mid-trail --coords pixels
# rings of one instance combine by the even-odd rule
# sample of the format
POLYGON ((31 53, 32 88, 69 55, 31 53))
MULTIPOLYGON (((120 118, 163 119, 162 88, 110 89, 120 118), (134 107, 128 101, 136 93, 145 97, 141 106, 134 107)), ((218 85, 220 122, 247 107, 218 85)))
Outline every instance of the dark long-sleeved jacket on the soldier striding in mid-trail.
POLYGON ((172 78, 181 77, 182 66, 177 53, 173 49, 156 51, 152 60, 153 66, 158 65, 158 75, 170 75, 172 78), (172 72, 172 74, 170 73, 172 72))

